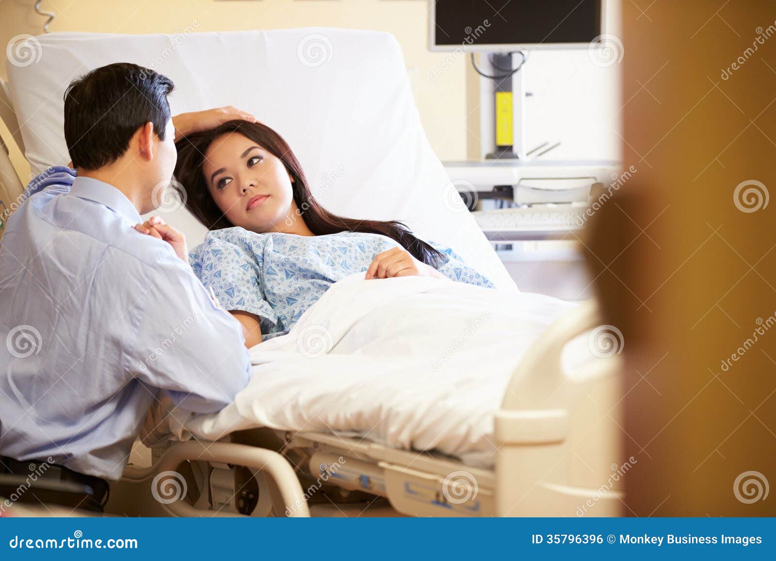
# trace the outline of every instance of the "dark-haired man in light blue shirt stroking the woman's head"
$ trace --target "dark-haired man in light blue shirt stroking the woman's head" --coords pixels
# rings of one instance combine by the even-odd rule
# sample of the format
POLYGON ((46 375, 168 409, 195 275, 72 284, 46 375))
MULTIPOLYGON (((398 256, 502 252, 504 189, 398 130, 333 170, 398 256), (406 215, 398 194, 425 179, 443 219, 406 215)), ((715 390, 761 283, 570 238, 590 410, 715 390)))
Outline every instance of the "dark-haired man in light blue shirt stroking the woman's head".
POLYGON ((176 133, 255 118, 227 108, 174 123, 172 88, 135 64, 75 80, 64 136, 78 177, 36 178, 0 245, 0 473, 53 463, 46 473, 88 485, 81 506, 95 510, 154 400, 212 413, 248 382, 241 324, 192 273, 183 236, 139 223, 171 178, 176 133))

